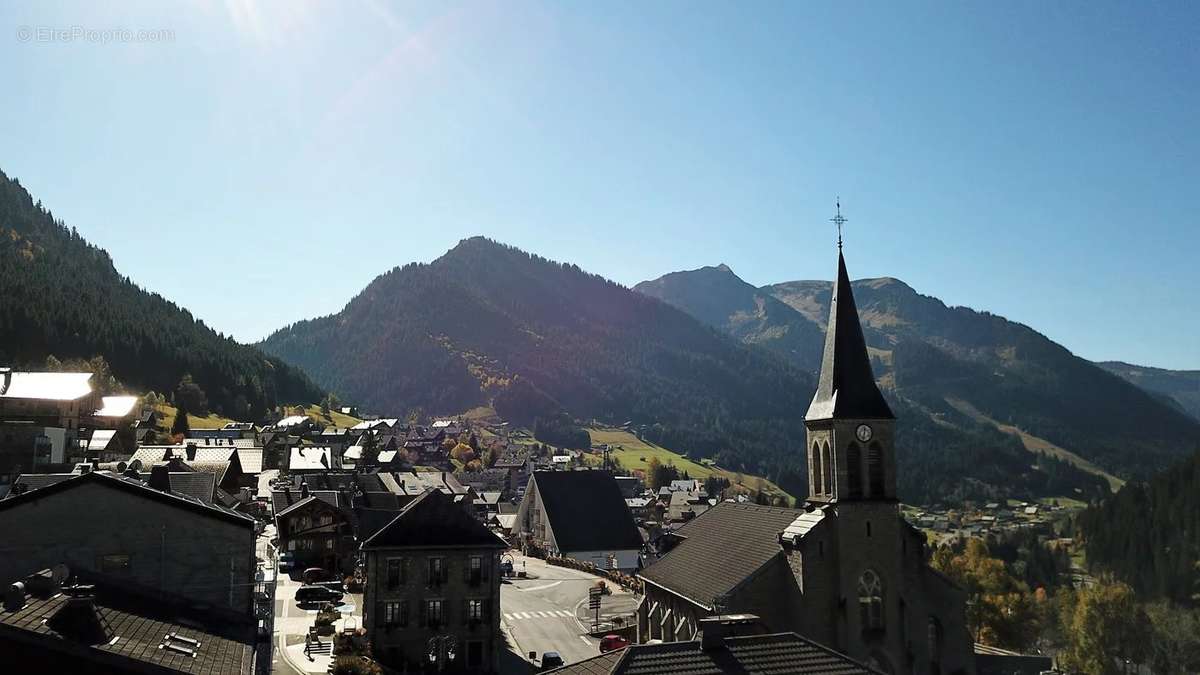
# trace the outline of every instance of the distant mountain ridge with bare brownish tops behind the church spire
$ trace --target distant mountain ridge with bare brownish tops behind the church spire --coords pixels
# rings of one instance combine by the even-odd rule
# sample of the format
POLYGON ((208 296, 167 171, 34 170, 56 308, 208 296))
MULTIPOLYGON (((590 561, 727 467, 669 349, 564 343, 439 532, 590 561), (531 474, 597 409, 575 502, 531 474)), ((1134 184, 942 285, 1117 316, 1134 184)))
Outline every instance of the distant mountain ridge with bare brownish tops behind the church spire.
MULTIPOLYGON (((756 288, 722 265, 670 274, 636 289, 803 370, 818 368, 832 282, 756 288)), ((1200 424, 1177 406, 1026 325, 949 307, 896 279, 859 280, 853 289, 875 375, 900 408, 901 462, 929 432, 937 436, 935 444, 973 448, 968 452, 992 460, 1021 461, 1013 450, 1026 450, 1026 464, 1037 459, 1056 473, 1082 468, 1115 489, 1124 478, 1166 467, 1200 437, 1200 424)), ((916 452, 924 461, 926 450, 916 452)), ((965 476, 977 473, 968 467, 965 476)))

